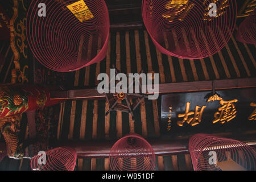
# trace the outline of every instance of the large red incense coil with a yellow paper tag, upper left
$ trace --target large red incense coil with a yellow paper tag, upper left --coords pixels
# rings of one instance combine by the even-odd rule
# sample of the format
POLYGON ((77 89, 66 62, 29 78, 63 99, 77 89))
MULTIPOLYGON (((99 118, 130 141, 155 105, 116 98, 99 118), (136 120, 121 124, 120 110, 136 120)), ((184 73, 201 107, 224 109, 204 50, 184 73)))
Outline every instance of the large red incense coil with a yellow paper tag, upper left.
POLYGON ((93 18, 80 22, 68 9, 78 0, 34 0, 27 11, 28 45, 40 63, 71 72, 104 59, 109 38, 109 13, 104 0, 84 0, 93 18), (45 3, 46 16, 38 16, 45 3))

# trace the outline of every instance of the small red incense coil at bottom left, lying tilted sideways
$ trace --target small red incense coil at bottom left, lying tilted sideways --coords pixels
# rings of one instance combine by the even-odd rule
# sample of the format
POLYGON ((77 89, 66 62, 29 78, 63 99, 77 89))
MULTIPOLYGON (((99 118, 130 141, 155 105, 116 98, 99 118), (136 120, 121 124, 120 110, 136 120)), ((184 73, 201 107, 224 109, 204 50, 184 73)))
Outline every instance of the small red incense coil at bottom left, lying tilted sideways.
POLYGON ((58 147, 34 156, 30 166, 34 171, 73 171, 76 158, 76 151, 72 148, 58 147))

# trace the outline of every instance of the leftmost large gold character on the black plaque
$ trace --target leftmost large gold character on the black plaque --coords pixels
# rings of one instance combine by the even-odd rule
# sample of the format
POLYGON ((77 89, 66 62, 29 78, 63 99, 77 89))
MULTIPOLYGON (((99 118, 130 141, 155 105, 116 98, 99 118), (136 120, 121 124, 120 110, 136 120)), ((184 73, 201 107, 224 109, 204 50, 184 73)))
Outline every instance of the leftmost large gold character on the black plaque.
POLYGON ((200 107, 196 106, 195 107, 195 112, 193 112, 193 111, 189 112, 189 106, 190 106, 190 102, 187 102, 185 113, 184 114, 178 114, 179 118, 183 118, 183 117, 184 118, 183 118, 183 121, 177 121, 177 125, 183 126, 183 123, 187 122, 191 126, 195 126, 195 125, 198 125, 201 122, 203 111, 204 111, 206 106, 203 106, 200 111, 199 111, 200 107), (189 115, 193 115, 193 114, 194 114, 194 117, 189 118, 189 115))

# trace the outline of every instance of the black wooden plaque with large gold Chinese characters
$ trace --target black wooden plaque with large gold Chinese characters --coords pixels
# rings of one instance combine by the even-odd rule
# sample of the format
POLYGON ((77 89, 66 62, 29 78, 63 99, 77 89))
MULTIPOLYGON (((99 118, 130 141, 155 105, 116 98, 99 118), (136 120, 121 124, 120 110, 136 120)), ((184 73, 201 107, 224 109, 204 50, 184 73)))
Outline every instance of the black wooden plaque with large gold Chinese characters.
POLYGON ((162 135, 238 132, 256 129, 256 88, 162 96, 162 135), (212 93, 211 93, 212 94, 212 93))

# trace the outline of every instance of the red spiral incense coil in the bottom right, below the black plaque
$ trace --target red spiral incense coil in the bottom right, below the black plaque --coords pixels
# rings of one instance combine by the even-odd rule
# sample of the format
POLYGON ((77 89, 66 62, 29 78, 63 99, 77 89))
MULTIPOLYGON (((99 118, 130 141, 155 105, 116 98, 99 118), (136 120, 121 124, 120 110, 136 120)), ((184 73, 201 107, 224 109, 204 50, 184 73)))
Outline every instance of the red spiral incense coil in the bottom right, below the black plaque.
POLYGON ((234 139, 196 134, 189 139, 189 153, 195 171, 223 170, 224 164, 229 167, 228 170, 232 170, 232 167, 252 171, 256 169, 254 148, 234 139))

